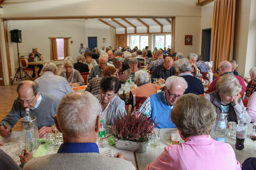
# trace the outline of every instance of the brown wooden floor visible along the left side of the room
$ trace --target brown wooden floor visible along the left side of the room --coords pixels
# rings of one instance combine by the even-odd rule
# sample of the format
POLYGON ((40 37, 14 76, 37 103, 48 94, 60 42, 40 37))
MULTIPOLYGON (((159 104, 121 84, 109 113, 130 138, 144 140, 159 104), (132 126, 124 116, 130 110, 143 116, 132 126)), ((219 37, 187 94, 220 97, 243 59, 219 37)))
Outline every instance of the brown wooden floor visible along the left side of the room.
MULTIPOLYGON (((63 65, 58 65, 58 71, 56 75, 59 75, 61 71, 64 71, 63 65)), ((40 73, 42 75, 43 72, 40 73)), ((31 74, 30 74, 31 75, 31 74)), ((14 100, 18 97, 17 84, 23 80, 30 80, 28 77, 22 80, 18 79, 18 82, 14 81, 14 85, 0 86, 0 121, 9 113, 12 108, 14 100)), ((15 124, 13 131, 21 131, 20 120, 15 124)))

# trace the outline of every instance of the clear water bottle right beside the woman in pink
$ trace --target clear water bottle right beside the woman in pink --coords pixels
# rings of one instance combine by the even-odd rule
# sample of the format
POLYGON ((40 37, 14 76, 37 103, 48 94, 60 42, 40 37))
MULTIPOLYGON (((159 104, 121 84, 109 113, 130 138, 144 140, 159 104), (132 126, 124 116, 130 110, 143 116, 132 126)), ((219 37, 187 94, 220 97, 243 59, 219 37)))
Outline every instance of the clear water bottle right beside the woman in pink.
POLYGON ((215 140, 220 142, 225 142, 226 137, 227 137, 227 122, 226 122, 225 114, 221 113, 220 121, 216 128, 215 140))

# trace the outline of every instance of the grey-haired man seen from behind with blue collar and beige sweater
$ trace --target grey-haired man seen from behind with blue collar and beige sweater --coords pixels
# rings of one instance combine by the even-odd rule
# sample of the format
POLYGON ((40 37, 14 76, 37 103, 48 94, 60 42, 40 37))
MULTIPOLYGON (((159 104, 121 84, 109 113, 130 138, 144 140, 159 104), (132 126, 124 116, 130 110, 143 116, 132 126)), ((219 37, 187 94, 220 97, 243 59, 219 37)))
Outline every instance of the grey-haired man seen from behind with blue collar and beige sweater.
POLYGON ((87 91, 63 97, 54 120, 64 143, 57 154, 31 159, 23 169, 135 169, 127 160, 99 154, 99 108, 97 98, 87 91))

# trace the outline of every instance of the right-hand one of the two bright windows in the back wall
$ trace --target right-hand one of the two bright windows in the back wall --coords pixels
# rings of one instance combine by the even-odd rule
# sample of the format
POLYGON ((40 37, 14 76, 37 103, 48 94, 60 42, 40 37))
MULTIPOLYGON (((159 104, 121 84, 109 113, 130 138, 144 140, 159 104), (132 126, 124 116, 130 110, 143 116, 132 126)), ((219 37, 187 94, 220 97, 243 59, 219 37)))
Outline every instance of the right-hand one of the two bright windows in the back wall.
POLYGON ((155 47, 157 49, 164 47, 171 48, 172 46, 172 35, 156 35, 155 36, 155 47))

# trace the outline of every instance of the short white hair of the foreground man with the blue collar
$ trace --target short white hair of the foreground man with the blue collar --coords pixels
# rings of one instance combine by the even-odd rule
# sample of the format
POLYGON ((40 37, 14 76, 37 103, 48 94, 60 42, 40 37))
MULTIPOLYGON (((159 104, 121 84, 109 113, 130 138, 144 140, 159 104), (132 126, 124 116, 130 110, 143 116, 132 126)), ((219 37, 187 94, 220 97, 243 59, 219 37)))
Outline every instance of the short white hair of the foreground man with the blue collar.
POLYGON ((59 127, 62 133, 70 137, 89 135, 99 115, 99 100, 88 91, 75 91, 65 95, 57 110, 59 127))

